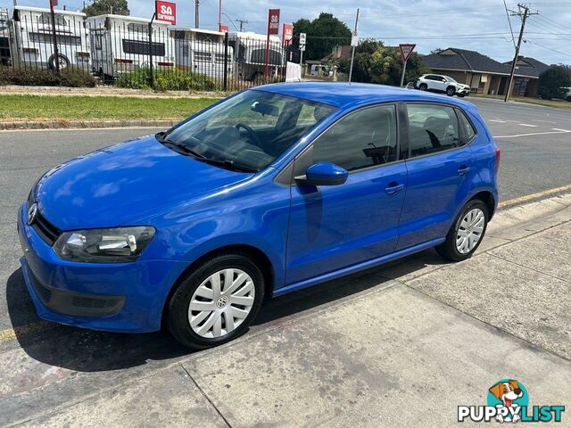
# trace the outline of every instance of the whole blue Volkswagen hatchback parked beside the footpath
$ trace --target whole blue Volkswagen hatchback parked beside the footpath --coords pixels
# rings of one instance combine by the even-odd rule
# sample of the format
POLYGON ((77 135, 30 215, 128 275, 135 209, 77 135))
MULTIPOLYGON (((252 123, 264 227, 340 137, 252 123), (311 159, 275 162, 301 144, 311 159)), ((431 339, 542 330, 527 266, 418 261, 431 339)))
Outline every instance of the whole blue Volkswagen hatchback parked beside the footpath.
POLYGON ((244 333, 281 295, 430 247, 469 258, 500 152, 471 103, 300 83, 230 96, 51 169, 23 203, 39 317, 186 346, 244 333))

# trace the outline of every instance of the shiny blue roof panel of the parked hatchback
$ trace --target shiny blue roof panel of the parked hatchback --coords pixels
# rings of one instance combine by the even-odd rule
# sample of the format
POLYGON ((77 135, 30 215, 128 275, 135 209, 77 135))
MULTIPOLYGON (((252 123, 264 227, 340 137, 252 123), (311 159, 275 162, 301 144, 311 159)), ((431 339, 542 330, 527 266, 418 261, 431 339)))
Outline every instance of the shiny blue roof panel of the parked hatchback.
POLYGON ((253 89, 326 103, 343 110, 394 101, 428 101, 458 105, 468 110, 475 108, 472 103, 446 95, 370 83, 295 82, 257 86, 253 89))

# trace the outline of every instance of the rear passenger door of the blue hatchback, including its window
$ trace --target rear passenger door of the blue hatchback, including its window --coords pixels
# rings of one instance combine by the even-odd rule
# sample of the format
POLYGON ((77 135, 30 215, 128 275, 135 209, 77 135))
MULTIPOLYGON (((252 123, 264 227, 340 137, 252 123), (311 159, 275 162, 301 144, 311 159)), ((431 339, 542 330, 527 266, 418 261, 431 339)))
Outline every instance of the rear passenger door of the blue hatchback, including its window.
POLYGON ((444 237, 470 190, 474 157, 454 107, 407 103, 408 185, 398 249, 444 237))

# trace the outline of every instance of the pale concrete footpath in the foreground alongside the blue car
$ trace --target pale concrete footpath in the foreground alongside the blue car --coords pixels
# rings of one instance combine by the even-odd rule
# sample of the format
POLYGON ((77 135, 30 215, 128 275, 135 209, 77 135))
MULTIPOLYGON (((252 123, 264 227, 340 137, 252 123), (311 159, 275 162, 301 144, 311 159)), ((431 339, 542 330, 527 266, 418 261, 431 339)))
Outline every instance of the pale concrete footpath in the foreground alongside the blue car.
POLYGON ((124 382, 88 374, 107 386, 76 373, 24 390, 22 367, 64 369, 0 354, 0 424, 446 427, 513 378, 571 426, 570 226, 571 193, 502 210, 472 259, 424 251, 272 300, 235 342, 124 382))

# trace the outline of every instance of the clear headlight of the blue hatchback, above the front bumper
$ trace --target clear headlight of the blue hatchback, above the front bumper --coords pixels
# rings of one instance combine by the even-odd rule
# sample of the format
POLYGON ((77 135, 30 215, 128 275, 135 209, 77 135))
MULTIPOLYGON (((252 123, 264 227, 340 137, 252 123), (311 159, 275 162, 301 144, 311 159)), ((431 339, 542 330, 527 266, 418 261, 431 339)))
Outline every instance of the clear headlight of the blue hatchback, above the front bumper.
POLYGON ((64 232, 54 243, 62 259, 91 263, 122 263, 137 259, 154 236, 154 227, 114 227, 64 232))

